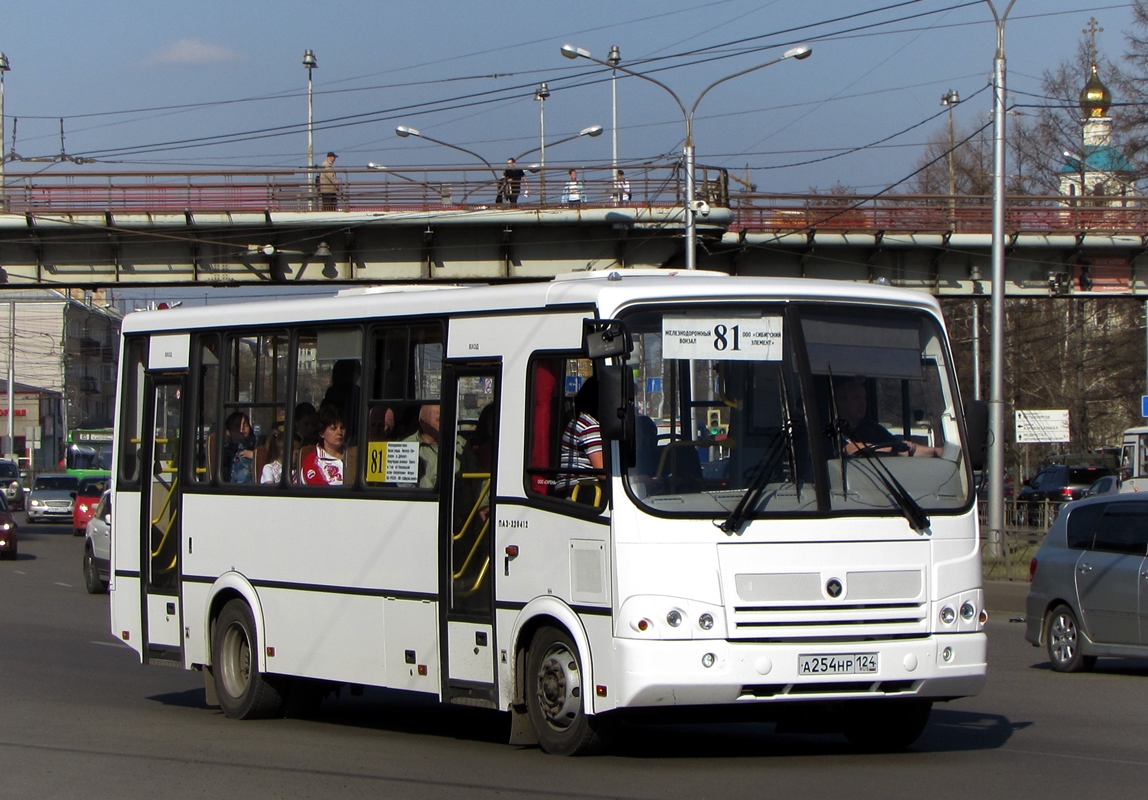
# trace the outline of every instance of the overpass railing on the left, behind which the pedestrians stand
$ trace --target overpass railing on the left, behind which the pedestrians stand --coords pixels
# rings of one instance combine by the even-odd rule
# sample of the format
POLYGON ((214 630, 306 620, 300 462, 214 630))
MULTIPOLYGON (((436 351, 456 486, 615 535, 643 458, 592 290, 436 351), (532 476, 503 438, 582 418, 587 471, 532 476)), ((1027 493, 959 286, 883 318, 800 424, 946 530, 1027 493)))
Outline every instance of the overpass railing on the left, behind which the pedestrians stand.
MULTIPOLYGON (((568 165, 530 170, 519 208, 569 205, 565 199, 568 165)), ((339 180, 339 211, 441 211, 496 207, 501 172, 486 168, 428 166, 344 169, 339 180)), ((320 211, 318 170, 150 171, 72 170, 21 174, 11 168, 0 194, 0 209, 14 213, 178 213, 320 211)), ((621 205, 613 170, 579 168, 582 205, 621 205)), ((638 207, 681 205, 683 180, 676 164, 627 165, 630 200, 638 207)), ((724 173, 703 168, 699 195, 728 204, 724 173)), ((509 199, 503 205, 510 207, 509 199)))

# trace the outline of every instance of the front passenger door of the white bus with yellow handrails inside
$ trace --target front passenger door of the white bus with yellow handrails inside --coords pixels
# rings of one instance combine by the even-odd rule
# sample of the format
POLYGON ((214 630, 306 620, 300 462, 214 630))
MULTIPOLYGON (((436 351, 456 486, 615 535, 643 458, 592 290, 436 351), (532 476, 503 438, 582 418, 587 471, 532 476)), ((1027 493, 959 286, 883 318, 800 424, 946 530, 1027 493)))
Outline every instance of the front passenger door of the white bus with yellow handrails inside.
POLYGON ((494 490, 498 430, 497 364, 443 371, 441 596, 444 697, 495 707, 494 490))

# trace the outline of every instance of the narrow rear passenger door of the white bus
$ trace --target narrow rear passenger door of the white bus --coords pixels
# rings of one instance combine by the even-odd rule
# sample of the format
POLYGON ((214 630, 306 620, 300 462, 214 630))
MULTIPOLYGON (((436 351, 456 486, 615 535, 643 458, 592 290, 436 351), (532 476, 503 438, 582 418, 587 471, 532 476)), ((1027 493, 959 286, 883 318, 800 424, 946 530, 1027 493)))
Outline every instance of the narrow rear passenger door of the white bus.
POLYGON ((144 661, 183 666, 180 609, 179 443, 184 373, 149 373, 141 453, 148 472, 141 497, 144 661))

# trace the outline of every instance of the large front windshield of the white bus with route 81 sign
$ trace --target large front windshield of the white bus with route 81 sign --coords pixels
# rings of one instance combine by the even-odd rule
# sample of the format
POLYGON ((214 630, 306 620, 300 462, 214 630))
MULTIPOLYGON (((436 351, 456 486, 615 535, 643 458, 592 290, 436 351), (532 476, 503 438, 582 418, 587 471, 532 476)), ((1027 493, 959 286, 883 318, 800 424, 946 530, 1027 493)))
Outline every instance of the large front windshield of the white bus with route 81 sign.
POLYGON ((625 320, 638 412, 625 473, 649 510, 912 521, 971 500, 931 316, 805 303, 634 310, 625 320))

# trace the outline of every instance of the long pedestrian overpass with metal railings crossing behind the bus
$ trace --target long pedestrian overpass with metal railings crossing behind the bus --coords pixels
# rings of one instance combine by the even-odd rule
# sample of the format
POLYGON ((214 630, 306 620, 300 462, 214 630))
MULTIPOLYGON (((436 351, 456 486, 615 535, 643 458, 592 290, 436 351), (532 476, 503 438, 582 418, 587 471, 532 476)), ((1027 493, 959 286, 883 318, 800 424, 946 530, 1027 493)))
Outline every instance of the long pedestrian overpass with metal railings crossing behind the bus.
MULTIPOLYGON (((8 287, 536 280, 575 270, 680 267, 683 176, 627 165, 528 176, 496 203, 488 169, 340 170, 324 210, 315 171, 11 172, 0 194, 0 282, 8 287)), ((699 269, 885 280, 938 295, 987 294, 987 196, 730 192, 699 168, 699 269)), ((1007 201, 1009 295, 1148 295, 1148 203, 1007 201), (1112 203, 1112 204, 1109 204, 1112 203)))

